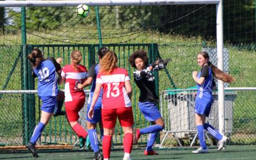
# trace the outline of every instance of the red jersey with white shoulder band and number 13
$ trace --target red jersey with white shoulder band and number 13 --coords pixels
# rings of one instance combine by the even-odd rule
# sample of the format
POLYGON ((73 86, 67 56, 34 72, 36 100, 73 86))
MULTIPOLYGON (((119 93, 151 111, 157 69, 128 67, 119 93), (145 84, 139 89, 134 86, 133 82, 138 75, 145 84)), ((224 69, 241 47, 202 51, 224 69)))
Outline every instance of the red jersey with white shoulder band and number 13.
POLYGON ((97 74, 96 83, 102 84, 102 108, 128 108, 131 107, 126 89, 125 81, 130 81, 127 70, 124 68, 115 68, 110 75, 97 74))

